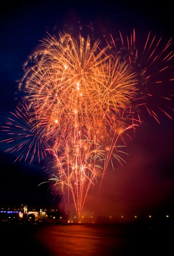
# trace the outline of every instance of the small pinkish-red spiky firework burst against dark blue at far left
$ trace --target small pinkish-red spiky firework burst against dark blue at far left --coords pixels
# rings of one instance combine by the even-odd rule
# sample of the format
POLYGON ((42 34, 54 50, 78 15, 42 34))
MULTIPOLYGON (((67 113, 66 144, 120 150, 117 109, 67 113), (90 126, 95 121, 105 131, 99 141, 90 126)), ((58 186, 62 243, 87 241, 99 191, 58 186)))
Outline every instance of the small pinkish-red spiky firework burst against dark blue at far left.
MULTIPOLYGON (((8 148, 5 152, 18 152, 16 160, 21 160, 25 157, 30 158, 30 163, 37 154, 40 162, 46 157, 45 148, 48 148, 47 139, 43 136, 43 128, 37 122, 37 112, 29 110, 26 104, 17 107, 14 113, 11 113, 11 118, 5 123, 2 131, 6 131, 10 138, 2 142, 11 143, 13 146, 8 148)), ((15 160, 15 161, 16 161, 15 160)))

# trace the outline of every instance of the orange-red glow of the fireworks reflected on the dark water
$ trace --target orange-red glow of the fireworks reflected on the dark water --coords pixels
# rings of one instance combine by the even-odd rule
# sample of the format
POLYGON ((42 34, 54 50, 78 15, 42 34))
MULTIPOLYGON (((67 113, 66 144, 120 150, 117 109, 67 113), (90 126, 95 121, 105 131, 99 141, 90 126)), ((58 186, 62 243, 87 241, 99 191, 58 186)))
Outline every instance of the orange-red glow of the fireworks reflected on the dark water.
POLYGON ((55 255, 115 255, 122 244, 118 230, 85 225, 47 227, 39 241, 55 255), (47 237, 47 239, 46 239, 47 237), (113 253, 113 254, 112 254, 113 253))

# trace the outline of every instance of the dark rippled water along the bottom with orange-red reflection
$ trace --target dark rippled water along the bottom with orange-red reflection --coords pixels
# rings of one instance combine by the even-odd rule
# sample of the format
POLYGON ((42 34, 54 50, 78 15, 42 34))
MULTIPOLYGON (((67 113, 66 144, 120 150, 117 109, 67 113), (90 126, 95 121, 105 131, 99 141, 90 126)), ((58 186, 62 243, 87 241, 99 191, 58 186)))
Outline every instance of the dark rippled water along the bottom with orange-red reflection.
POLYGON ((0 225, 2 255, 171 255, 173 228, 148 225, 0 225))

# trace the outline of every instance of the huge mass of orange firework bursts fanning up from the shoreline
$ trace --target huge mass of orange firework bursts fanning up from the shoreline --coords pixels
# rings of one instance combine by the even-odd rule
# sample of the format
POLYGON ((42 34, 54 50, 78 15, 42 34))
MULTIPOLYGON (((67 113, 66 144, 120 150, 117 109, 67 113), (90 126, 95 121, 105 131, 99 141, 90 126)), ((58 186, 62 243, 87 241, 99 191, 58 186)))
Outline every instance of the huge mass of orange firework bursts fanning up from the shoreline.
MULTIPOLYGON (((49 180, 65 198, 67 195, 68 202, 73 198, 79 221, 90 187, 99 178, 102 183, 113 157, 122 162, 125 137, 130 137, 129 130, 135 132, 142 122, 137 106, 144 105, 158 121, 154 111, 140 102, 144 95, 140 97, 138 84, 146 84, 150 76, 145 69, 139 74, 134 71, 138 63, 135 32, 130 41, 127 38, 127 48, 120 34, 126 58, 111 39, 112 44, 107 42, 103 49, 99 41, 91 43, 89 37, 85 40, 81 35, 74 39, 64 33, 43 40, 26 62, 20 82, 20 89, 27 95, 26 104, 5 127, 13 134, 7 142, 22 140, 8 150, 22 150, 20 159, 31 154, 32 161, 36 152, 42 158, 46 152, 52 154, 49 180), (137 103, 133 103, 135 100, 137 103)), ((155 55, 154 49, 150 51, 153 42, 147 49, 150 65, 160 57, 161 62, 173 57, 164 57, 163 52, 155 55)), ((170 41, 166 49, 169 45, 170 41)))

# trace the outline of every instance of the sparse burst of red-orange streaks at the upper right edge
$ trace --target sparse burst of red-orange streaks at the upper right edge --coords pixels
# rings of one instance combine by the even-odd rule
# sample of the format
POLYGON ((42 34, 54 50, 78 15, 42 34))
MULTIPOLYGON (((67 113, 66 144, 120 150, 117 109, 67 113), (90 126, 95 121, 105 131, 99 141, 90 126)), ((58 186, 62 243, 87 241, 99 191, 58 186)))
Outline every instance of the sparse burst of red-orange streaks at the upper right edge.
POLYGON ((123 60, 126 59, 137 73, 137 95, 131 102, 132 107, 145 107, 147 113, 159 123, 159 111, 171 118, 168 110, 173 110, 173 106, 170 107, 173 88, 168 94, 167 90, 164 91, 164 86, 171 87, 171 82, 174 80, 173 76, 169 78, 174 72, 174 52, 171 49, 171 39, 163 42, 162 37, 157 38, 156 35, 152 36, 149 32, 144 48, 138 49, 135 44, 134 30, 130 38, 128 36, 124 38, 120 32, 121 43, 119 42, 119 45, 114 41, 112 35, 111 45, 109 46, 107 42, 111 51, 114 49, 113 52, 116 52, 123 60))

